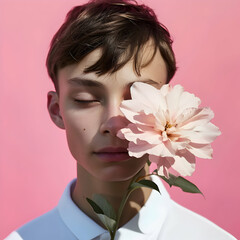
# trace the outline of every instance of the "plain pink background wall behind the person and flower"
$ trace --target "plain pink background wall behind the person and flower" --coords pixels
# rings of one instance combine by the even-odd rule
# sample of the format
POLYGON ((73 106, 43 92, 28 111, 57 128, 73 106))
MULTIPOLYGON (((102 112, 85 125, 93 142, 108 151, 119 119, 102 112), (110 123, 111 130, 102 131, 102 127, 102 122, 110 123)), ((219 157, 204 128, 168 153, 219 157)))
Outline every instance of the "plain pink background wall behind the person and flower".
MULTIPOLYGON (((50 39, 81 0, 0 1, 0 239, 53 208, 75 177, 75 161, 47 113, 53 89, 45 69, 50 39)), ((169 189, 173 199, 240 236, 238 0, 144 0, 174 39, 173 83, 215 112, 222 135, 213 160, 198 159, 190 178, 201 195, 169 189)))

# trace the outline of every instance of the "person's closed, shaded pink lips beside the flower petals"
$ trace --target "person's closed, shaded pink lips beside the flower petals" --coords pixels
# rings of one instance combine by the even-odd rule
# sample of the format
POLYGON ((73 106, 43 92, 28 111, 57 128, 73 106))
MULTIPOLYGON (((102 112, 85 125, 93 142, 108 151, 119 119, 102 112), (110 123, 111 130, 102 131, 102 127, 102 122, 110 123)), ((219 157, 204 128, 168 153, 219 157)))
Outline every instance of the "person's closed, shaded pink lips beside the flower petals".
POLYGON ((94 152, 103 162, 121 162, 130 158, 127 148, 123 147, 105 147, 94 152))

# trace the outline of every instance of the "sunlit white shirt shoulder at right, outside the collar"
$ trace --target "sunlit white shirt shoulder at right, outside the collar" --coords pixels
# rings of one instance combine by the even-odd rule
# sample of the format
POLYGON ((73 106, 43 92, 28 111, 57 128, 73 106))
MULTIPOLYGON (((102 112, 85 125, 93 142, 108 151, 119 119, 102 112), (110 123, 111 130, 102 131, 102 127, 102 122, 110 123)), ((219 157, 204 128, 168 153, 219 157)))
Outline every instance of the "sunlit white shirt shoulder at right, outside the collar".
MULTIPOLYGON (((231 234, 201 215, 170 200, 162 234, 166 239, 236 240, 231 234)), ((163 238, 165 239, 165 238, 163 238)))

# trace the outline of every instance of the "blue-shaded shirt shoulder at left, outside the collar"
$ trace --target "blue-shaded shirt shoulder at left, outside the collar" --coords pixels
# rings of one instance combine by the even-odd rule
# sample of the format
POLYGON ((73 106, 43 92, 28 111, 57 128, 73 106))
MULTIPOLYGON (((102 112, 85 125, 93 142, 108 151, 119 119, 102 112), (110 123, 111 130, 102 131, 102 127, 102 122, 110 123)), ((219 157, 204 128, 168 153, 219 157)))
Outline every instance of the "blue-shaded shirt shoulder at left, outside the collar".
POLYGON ((75 239, 59 215, 57 208, 26 223, 5 240, 75 239))

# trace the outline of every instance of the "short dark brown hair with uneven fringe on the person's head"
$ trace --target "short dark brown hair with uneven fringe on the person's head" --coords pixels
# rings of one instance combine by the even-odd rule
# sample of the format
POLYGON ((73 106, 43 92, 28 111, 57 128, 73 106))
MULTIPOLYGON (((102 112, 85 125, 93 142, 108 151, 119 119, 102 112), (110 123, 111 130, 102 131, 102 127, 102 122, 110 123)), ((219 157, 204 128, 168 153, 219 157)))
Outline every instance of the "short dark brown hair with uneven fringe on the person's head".
POLYGON ((176 72, 172 39, 154 11, 134 0, 89 1, 70 10, 54 35, 46 61, 48 74, 58 90, 59 69, 80 62, 101 48, 100 59, 84 72, 113 73, 133 58, 134 69, 141 75, 139 53, 150 39, 154 43, 152 58, 159 49, 166 63, 169 82, 176 72))

